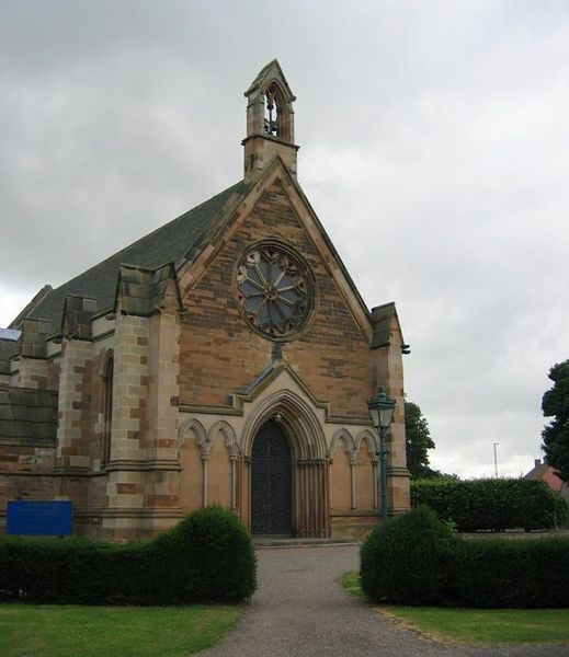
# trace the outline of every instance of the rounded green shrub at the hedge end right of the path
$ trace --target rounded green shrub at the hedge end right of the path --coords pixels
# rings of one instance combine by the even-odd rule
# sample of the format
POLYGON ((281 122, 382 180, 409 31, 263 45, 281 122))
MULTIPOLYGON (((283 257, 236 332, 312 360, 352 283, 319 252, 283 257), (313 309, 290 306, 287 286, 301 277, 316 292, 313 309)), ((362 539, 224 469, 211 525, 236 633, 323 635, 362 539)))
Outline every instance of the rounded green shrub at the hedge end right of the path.
POLYGON ((437 604, 448 597, 456 539, 428 507, 378 525, 361 548, 361 580, 376 602, 437 604))

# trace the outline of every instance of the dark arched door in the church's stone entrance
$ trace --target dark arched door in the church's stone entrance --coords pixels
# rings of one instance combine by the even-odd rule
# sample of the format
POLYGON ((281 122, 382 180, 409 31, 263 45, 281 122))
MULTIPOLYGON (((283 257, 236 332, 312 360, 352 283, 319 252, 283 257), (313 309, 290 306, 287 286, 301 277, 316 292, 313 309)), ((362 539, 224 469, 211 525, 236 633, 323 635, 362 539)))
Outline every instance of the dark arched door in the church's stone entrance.
POLYGON ((291 534, 291 448, 273 419, 257 434, 251 454, 251 533, 291 534))

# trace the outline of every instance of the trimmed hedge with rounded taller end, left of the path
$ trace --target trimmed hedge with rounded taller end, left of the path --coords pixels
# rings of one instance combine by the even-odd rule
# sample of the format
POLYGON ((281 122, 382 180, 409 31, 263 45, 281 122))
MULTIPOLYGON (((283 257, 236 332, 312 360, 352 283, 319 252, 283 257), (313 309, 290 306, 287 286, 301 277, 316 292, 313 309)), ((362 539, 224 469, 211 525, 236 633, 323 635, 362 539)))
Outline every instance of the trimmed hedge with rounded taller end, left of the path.
POLYGON ((237 602, 257 588, 251 538, 219 507, 186 516, 156 539, 4 537, 0 597, 82 604, 237 602))

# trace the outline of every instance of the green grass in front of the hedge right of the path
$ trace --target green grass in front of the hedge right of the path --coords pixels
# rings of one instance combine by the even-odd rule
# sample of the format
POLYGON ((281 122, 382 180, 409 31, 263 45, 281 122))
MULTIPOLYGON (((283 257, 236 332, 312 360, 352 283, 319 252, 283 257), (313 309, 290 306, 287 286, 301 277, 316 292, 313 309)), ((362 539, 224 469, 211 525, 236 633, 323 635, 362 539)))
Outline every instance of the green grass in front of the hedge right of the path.
MULTIPOLYGON (((360 575, 346 573, 343 588, 363 596, 360 575)), ((442 641, 463 644, 567 644, 569 609, 462 609, 448 607, 379 607, 408 627, 442 641)))

